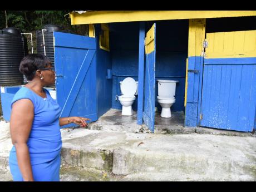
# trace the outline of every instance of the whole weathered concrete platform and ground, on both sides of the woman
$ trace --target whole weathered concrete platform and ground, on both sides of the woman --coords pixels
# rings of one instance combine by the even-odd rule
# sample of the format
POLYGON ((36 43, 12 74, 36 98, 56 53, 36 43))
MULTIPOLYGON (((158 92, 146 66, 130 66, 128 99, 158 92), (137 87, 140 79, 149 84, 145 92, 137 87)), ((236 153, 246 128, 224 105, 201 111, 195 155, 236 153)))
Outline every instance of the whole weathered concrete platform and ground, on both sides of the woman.
MULTIPOLYGON (((256 181, 253 134, 191 131, 179 124, 169 126, 173 134, 159 128, 164 134, 151 134, 133 117, 122 119, 115 112, 114 121, 105 116, 87 129, 61 130, 61 181, 256 181), (126 154, 118 161, 117 149, 126 154), (122 171, 126 174, 115 174, 122 171)), ((0 127, 0 179, 9 181, 9 124, 0 121, 0 127)))

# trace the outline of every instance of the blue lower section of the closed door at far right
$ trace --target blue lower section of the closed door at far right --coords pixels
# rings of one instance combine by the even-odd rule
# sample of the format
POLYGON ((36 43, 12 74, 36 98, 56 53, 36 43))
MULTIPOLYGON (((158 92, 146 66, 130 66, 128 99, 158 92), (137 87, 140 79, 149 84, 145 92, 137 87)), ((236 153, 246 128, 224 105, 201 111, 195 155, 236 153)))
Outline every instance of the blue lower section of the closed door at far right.
POLYGON ((249 60, 249 63, 248 58, 205 60, 201 126, 244 132, 253 130, 256 58, 249 60))

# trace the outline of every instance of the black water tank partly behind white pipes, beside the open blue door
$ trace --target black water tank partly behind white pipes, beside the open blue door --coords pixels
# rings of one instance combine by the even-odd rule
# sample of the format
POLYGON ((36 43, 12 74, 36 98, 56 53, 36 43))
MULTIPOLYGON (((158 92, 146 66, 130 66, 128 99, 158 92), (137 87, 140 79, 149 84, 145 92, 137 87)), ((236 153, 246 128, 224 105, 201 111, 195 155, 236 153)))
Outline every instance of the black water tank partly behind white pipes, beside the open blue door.
POLYGON ((47 24, 43 27, 47 31, 36 31, 37 53, 45 55, 50 58, 52 65, 54 65, 54 48, 53 48, 53 31, 65 32, 61 26, 56 24, 47 24), (45 51, 43 48, 43 36, 45 38, 45 51))

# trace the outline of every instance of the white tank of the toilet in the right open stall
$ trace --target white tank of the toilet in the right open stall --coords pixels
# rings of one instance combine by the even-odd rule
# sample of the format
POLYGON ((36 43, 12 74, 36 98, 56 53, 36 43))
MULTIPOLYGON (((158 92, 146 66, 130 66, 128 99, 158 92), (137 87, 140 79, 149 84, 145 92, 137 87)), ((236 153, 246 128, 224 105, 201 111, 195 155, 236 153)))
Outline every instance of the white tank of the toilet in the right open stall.
POLYGON ((158 95, 159 96, 175 96, 176 83, 179 81, 174 80, 156 80, 158 86, 158 95))

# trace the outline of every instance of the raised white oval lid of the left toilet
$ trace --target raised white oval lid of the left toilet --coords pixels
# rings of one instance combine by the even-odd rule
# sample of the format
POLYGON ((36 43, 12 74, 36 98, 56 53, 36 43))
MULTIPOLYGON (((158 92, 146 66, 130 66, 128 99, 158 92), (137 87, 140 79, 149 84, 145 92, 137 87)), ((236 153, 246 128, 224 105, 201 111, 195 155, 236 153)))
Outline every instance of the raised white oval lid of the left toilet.
POLYGON ((127 77, 122 81, 120 88, 125 96, 134 96, 137 91, 137 84, 133 78, 127 77))

